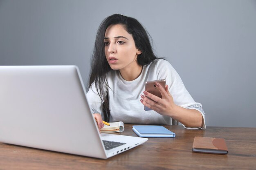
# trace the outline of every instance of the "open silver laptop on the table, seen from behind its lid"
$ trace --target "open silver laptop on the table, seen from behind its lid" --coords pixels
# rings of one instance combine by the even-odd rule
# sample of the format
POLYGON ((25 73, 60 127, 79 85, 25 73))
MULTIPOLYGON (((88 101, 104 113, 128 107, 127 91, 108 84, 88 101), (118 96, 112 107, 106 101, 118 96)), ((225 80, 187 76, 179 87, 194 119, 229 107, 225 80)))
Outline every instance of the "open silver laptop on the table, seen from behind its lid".
POLYGON ((0 66, 1 142, 107 159, 147 140, 99 133, 76 66, 0 66))

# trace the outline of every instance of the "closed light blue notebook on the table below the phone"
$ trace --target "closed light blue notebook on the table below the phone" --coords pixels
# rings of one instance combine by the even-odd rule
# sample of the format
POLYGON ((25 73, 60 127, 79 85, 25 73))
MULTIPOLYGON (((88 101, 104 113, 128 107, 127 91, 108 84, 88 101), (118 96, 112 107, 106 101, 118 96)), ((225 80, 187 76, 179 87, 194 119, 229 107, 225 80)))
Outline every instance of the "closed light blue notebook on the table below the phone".
POLYGON ((132 130, 139 137, 175 137, 175 133, 166 129, 164 126, 135 125, 132 130))

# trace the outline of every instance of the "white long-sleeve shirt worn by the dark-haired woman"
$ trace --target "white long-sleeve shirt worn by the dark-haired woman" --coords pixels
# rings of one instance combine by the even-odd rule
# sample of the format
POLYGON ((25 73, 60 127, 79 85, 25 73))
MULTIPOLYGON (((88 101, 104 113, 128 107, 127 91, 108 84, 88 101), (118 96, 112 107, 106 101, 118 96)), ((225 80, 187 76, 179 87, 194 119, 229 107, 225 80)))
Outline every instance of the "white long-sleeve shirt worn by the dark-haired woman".
MULTIPOLYGON (((104 86, 104 98, 108 94, 110 108, 110 122, 123 121, 131 124, 167 124, 171 125, 171 117, 160 115, 154 110, 145 111, 144 105, 139 99, 143 94, 145 82, 165 79, 168 90, 176 105, 188 109, 196 109, 204 118, 202 105, 193 100, 186 90, 180 76, 171 64, 163 59, 154 60, 144 65, 142 72, 135 80, 126 81, 118 70, 106 73, 108 87, 104 86)), ((101 98, 99 97, 95 84, 90 87, 87 98, 91 108, 103 113, 101 98)), ((184 126, 184 125, 183 125, 184 126)), ((189 128, 184 126, 185 128, 189 128)), ((205 120, 202 129, 205 129, 205 120)), ((195 128, 190 128, 195 129, 195 128)))

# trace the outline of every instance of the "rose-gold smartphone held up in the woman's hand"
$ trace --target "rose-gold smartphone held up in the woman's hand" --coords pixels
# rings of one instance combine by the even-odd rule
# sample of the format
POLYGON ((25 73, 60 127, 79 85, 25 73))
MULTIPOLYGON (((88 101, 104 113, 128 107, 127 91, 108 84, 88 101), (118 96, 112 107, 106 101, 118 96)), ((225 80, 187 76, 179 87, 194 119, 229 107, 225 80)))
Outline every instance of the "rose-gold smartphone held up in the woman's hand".
MULTIPOLYGON (((157 89, 155 83, 158 83, 160 84, 160 86, 162 86, 163 88, 165 88, 165 79, 159 79, 159 80, 154 80, 154 81, 148 81, 145 83, 145 91, 153 94, 153 95, 156 95, 160 98, 162 98, 162 95, 161 93, 159 92, 159 90, 157 89)), ((150 99, 148 97, 148 99, 150 99)), ((144 106, 144 110, 145 111, 148 111, 148 110, 151 110, 150 108, 144 106)))

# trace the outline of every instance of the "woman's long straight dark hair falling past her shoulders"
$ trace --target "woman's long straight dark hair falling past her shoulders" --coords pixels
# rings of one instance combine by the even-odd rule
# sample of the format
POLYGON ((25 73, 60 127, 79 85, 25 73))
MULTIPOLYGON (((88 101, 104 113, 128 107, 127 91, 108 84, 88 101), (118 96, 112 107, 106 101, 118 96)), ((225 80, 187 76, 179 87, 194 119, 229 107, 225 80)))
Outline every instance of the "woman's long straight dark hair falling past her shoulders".
POLYGON ((95 83, 97 93, 101 97, 101 102, 103 103, 103 115, 106 121, 109 121, 110 110, 108 105, 108 95, 105 99, 103 96, 103 86, 108 86, 106 73, 112 69, 110 68, 105 56, 105 45, 103 40, 108 26, 115 24, 122 24, 126 31, 132 35, 136 48, 141 51, 141 54, 137 56, 137 62, 139 65, 144 66, 153 60, 158 59, 153 53, 149 40, 150 35, 135 18, 114 14, 105 18, 101 22, 96 35, 94 51, 92 53, 89 88, 93 83, 95 83))

